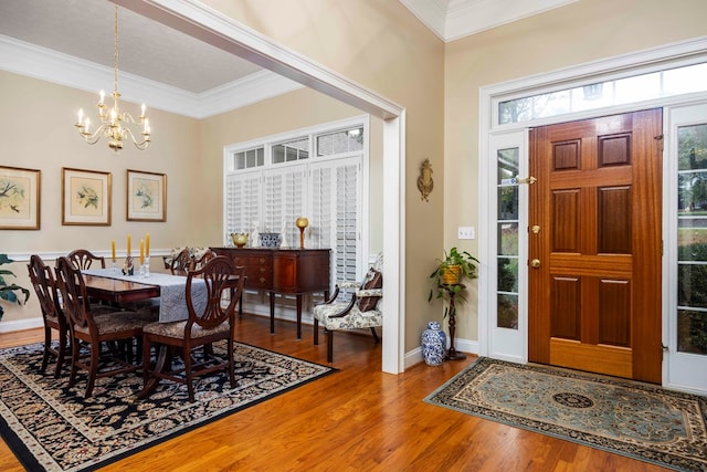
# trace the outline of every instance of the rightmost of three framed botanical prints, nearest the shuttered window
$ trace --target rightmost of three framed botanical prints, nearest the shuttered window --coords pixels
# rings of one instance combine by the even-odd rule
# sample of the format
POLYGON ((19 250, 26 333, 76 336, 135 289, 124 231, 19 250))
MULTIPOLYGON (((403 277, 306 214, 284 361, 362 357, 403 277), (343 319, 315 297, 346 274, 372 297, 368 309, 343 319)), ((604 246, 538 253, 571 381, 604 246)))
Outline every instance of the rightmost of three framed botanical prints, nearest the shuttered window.
POLYGON ((128 221, 167 221, 167 176, 128 169, 128 221))

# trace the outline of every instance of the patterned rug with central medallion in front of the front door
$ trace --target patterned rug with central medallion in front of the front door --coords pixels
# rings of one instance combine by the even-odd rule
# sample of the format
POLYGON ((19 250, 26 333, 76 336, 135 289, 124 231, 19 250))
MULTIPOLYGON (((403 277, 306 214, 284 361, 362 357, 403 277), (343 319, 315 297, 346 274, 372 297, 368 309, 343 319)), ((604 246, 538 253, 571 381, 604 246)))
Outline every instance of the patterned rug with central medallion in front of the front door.
POLYGON ((481 357, 424 401, 679 471, 707 471, 707 397, 481 357))

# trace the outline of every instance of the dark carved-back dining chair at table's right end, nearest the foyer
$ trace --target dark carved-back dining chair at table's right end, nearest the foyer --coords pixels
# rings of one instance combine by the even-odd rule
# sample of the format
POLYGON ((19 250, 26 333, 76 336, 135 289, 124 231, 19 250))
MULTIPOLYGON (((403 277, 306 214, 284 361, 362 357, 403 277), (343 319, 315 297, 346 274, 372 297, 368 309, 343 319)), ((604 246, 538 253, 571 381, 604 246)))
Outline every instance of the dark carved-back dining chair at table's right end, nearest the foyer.
POLYGON ((235 304, 241 298, 245 276, 244 268, 236 268, 233 261, 225 255, 211 259, 202 269, 194 270, 187 275, 184 296, 189 318, 171 323, 150 323, 143 327, 143 371, 145 386, 159 379, 168 379, 187 385, 189 401, 194 401, 193 378, 219 370, 226 370, 231 388, 235 387, 233 342, 235 337, 235 304), (204 285, 196 290, 207 291, 207 303, 202 310, 194 306, 192 285, 197 279, 203 279, 204 285), (234 294, 226 306, 221 303, 224 293, 231 293, 235 285, 234 294), (226 339, 226 359, 213 354, 207 346, 217 340, 226 339), (159 345, 159 352, 155 366, 150 361, 152 344, 159 345), (199 354, 194 348, 199 349, 199 354), (171 350, 179 352, 183 367, 171 369, 171 360, 160 364, 171 350), (198 356, 201 358, 199 359, 198 356), (171 370, 170 370, 171 369, 171 370))

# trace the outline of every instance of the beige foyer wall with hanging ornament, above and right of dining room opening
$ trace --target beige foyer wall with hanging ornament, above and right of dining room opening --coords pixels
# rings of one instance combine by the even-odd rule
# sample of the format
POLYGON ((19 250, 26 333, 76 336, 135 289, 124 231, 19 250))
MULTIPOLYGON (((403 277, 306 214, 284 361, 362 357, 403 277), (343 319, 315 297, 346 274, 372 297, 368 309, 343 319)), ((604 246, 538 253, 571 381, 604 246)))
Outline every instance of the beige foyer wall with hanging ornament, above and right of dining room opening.
POLYGON ((441 305, 428 304, 428 275, 443 249, 444 43, 399 0, 204 3, 405 108, 404 350, 414 349, 426 322, 442 318, 441 305), (416 189, 425 158, 434 171, 430 202, 416 189))

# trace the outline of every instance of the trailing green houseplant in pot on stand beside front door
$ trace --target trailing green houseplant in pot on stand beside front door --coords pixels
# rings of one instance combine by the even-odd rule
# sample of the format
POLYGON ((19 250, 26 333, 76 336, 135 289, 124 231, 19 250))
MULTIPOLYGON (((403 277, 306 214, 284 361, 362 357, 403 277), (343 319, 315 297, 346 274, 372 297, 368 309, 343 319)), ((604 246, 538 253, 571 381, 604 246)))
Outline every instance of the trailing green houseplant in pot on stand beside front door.
POLYGON ((447 303, 444 307, 444 316, 450 315, 453 317, 456 314, 456 304, 466 301, 462 295, 463 283, 466 280, 476 279, 478 259, 467 251, 452 248, 449 252, 444 251, 444 259, 437 259, 436 261, 437 266, 430 274, 432 287, 430 289, 428 302, 431 302, 433 297, 435 300, 445 300, 447 303), (449 302, 452 297, 455 298, 455 305, 452 306, 452 312, 450 312, 449 302))

